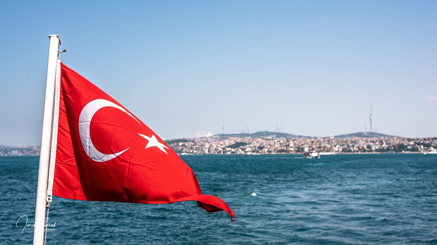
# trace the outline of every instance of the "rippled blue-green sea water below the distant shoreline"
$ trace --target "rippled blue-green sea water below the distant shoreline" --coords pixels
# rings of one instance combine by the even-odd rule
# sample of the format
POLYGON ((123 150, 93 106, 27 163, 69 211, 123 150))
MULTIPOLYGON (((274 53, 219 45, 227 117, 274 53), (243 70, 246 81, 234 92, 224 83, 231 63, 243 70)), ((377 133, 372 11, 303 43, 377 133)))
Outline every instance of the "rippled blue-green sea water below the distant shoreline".
MULTIPOLYGON (((169 205, 55 197, 47 245, 437 244, 437 155, 188 155, 204 194, 169 205), (256 195, 253 195, 255 193, 256 195)), ((0 244, 31 244, 38 157, 0 157, 0 244), (18 226, 18 227, 17 227, 18 226), (23 230, 24 228, 24 230, 23 230)))

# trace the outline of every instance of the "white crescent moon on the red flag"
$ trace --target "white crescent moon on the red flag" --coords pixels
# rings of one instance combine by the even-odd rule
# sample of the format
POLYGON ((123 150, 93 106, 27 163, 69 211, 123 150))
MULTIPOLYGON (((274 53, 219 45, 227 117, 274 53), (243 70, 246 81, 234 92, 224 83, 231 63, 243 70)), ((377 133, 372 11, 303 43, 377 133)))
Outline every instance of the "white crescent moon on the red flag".
MULTIPOLYGON (((87 153, 87 156, 89 158, 91 158, 91 160, 98 161, 98 162, 108 161, 108 160, 111 160, 112 158, 116 158, 118 155, 120 155, 121 153, 123 153, 129 149, 128 148, 124 151, 120 151, 120 152, 114 153, 114 154, 104 154, 104 153, 101 153, 100 151, 98 151, 94 147, 94 144, 91 141, 91 137, 90 137, 90 123, 91 123, 91 119, 93 118, 94 114, 96 114, 96 112, 103 107, 117 108, 121 111, 124 111, 129 116, 131 116, 133 119, 135 119, 135 117, 133 117, 130 113, 128 113, 125 109, 123 109, 123 107, 120 107, 120 106, 112 103, 111 101, 107 101, 104 99, 97 99, 97 100, 91 101, 85 107, 83 107, 82 111, 80 112, 80 116, 79 116, 80 141, 82 141, 82 146, 83 146, 83 149, 85 150, 85 152, 87 153)), ((135 119, 135 121, 137 121, 141 125, 141 123, 138 120, 135 119)))

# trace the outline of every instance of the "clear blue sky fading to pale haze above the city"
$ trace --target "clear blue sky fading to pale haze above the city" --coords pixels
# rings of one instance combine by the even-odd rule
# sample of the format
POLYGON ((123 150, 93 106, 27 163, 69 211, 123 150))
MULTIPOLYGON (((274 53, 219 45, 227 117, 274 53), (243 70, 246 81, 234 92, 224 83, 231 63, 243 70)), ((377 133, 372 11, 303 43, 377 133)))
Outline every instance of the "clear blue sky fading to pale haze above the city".
POLYGON ((161 138, 437 136, 436 1, 3 1, 0 144, 39 145, 62 62, 161 138))

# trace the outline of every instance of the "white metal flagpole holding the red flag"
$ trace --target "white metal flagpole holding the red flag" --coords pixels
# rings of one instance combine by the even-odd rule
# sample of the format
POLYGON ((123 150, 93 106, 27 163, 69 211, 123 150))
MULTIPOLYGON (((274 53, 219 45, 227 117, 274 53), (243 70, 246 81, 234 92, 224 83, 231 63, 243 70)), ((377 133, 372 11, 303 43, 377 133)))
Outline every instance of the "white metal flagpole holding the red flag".
POLYGON ((39 155, 38 188, 36 191, 35 225, 33 244, 44 243, 45 202, 49 176, 50 139, 52 136, 53 99, 55 97, 56 58, 61 45, 59 35, 49 35, 49 61, 45 81, 44 114, 42 116, 41 153, 39 155))

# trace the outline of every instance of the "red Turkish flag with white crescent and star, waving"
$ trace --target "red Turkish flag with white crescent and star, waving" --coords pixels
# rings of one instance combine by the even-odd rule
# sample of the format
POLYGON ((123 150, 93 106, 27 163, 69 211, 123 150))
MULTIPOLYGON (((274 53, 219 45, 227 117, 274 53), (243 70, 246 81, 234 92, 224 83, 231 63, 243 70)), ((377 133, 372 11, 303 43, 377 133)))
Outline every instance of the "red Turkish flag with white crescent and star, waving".
POLYGON ((53 195, 86 201, 164 204, 197 201, 234 212, 203 195, 190 167, 125 107, 61 63, 53 195))

